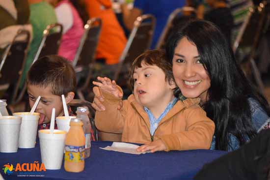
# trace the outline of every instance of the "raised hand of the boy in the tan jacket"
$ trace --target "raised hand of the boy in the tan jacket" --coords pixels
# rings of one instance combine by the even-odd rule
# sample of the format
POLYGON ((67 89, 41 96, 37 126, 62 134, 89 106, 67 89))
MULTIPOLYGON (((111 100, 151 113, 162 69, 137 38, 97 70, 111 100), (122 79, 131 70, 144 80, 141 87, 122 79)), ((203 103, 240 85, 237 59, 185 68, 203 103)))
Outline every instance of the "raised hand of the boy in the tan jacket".
POLYGON ((107 93, 110 93, 112 95, 114 95, 115 97, 119 98, 119 97, 123 97, 123 93, 120 92, 120 90, 118 90, 117 85, 115 83, 115 81, 111 81, 109 78, 107 77, 98 77, 97 78, 100 82, 96 82, 93 81, 93 84, 98 86, 101 90, 106 91, 107 93))

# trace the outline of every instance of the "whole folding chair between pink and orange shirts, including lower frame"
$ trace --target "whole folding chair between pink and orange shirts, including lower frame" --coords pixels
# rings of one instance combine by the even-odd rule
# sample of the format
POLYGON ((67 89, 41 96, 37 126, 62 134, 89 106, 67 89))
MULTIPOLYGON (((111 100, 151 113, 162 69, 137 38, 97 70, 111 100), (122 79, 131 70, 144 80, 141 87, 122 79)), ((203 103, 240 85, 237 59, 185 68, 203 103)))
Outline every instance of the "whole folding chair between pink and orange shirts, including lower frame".
POLYGON ((81 83, 76 90, 80 99, 84 99, 82 91, 88 88, 92 77, 101 27, 102 22, 100 18, 91 18, 87 21, 87 24, 84 26, 80 46, 73 60, 77 81, 81 83))

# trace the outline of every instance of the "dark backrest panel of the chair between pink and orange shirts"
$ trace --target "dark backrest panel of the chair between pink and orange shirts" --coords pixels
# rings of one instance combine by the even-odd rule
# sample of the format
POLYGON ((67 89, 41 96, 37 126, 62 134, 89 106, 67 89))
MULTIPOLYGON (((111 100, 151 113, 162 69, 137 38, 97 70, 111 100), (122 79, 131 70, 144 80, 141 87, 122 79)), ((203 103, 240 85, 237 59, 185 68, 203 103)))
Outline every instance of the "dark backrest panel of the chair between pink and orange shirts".
POLYGON ((95 60, 95 53, 100 36, 102 22, 100 18, 91 18, 84 25, 79 48, 73 60, 73 67, 78 65, 88 66, 95 60))

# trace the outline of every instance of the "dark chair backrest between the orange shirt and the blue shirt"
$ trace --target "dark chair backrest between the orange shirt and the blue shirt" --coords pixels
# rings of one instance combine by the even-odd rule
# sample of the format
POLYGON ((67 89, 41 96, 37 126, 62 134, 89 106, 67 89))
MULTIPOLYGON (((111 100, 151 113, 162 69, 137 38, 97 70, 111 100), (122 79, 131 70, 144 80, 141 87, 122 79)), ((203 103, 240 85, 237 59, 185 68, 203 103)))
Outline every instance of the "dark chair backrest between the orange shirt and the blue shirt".
MULTIPOLYGON (((145 14, 137 17, 114 74, 115 81, 118 79, 123 64, 129 66, 135 58, 150 48, 155 26, 156 18, 153 15, 145 14)), ((125 70, 128 69, 125 68, 125 70)))

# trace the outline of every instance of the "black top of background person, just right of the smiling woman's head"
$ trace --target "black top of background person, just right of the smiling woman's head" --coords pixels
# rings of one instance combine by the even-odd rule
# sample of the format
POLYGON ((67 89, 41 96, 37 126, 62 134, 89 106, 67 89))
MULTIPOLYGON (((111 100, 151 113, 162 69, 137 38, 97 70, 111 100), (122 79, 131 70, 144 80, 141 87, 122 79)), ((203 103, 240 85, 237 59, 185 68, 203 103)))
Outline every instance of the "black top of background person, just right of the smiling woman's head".
POLYGON ((204 19, 214 23, 223 32, 231 45, 231 34, 234 27, 234 19, 229 7, 212 9, 204 15, 204 19))

